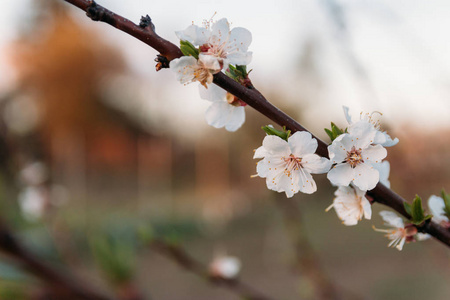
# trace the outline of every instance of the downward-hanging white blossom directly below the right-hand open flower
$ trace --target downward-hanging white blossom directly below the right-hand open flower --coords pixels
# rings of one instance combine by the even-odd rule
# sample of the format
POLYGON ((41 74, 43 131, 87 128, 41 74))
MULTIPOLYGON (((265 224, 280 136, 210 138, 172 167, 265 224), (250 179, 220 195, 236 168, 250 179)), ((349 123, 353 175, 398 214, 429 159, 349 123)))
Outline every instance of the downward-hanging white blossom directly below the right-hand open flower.
POLYGON ((347 226, 358 224, 363 217, 370 220, 372 207, 365 194, 365 191, 361 191, 357 187, 340 186, 334 193, 336 198, 327 211, 334 207, 339 219, 347 226))

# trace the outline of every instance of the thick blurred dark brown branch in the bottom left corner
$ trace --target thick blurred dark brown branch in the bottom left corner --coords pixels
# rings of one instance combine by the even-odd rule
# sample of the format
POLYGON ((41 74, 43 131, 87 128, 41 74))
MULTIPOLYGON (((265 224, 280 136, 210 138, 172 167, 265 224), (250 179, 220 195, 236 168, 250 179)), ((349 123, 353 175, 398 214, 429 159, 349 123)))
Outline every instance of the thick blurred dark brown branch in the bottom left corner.
POLYGON ((9 228, 0 220, 0 250, 12 257, 22 268, 44 280, 49 287, 65 295, 64 299, 108 300, 85 283, 80 283, 67 271, 60 271, 46 264, 42 259, 26 250, 11 233, 9 228))

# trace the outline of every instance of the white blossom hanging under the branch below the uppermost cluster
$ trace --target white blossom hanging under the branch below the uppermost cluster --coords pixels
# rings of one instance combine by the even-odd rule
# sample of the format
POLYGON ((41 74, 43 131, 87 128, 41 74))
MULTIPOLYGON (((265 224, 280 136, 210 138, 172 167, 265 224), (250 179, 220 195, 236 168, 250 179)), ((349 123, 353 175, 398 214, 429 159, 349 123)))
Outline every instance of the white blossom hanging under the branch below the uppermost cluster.
POLYGON ((205 114, 209 125, 236 131, 244 124, 244 102, 216 85, 210 85, 208 89, 199 85, 199 92, 202 99, 212 102, 205 114))

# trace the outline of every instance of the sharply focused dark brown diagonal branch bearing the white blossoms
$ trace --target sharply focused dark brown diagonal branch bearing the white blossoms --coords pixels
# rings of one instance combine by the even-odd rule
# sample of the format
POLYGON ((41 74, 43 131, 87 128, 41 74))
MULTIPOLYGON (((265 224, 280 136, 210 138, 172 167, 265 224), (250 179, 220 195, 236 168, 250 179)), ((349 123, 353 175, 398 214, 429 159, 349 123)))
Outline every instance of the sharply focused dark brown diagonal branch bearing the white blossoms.
MULTIPOLYGON (((114 14, 113 12, 105 9, 104 7, 95 4, 93 1, 87 0, 64 0, 69 2, 82 10, 86 11, 88 16, 93 18, 93 20, 103 21, 110 24, 113 27, 122 30, 131 36, 143 41, 150 47, 156 49, 165 56, 169 61, 182 56, 179 48, 162 39, 153 30, 153 26, 150 25, 142 28, 133 22, 114 14), (93 13, 94 10, 96 13, 93 13)), ((142 24, 145 26, 146 24, 142 24)), ((254 88, 247 88, 239 84, 238 82, 227 77, 223 73, 218 73, 214 75, 214 83, 223 88, 224 90, 232 93, 236 97, 240 98, 246 102, 249 106, 256 109, 261 114, 268 117, 270 120, 274 121, 280 126, 286 126, 287 129, 292 132, 296 131, 308 131, 306 128, 297 123, 293 118, 282 112, 280 109, 271 104, 258 90, 254 88)), ((314 135, 313 135, 314 136, 314 135)), ((315 136, 314 136, 315 137, 315 136)), ((322 140, 315 137, 318 141, 318 148, 316 153, 323 157, 328 157, 328 145, 322 140)), ((367 192, 376 202, 382 203, 386 206, 391 207, 396 210, 406 218, 410 219, 410 216, 406 213, 403 208, 403 203, 406 202, 402 197, 396 194, 391 189, 388 189, 383 184, 378 183, 378 185, 371 191, 367 192)), ((450 230, 443 228, 435 223, 427 224, 418 228, 422 232, 431 234, 433 237, 437 238, 442 243, 450 247, 450 230)))

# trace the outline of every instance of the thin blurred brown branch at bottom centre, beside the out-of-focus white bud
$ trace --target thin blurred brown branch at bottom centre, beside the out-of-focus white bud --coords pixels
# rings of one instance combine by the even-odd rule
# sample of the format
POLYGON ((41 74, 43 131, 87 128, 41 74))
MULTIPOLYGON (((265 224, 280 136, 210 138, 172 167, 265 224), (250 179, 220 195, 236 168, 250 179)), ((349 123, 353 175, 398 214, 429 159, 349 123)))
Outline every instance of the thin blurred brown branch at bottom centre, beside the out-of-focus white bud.
POLYGON ((211 276, 211 273, 208 271, 208 268, 205 265, 192 258, 185 250, 178 246, 168 244, 162 240, 154 240, 151 242, 150 246, 160 254, 176 262, 183 269, 192 272, 205 280, 208 280, 208 282, 213 285, 226 288, 229 291, 243 297, 244 299, 272 299, 255 290, 253 287, 243 283, 239 279, 228 279, 223 277, 211 276))

